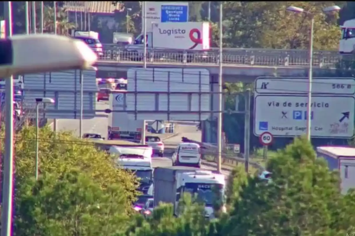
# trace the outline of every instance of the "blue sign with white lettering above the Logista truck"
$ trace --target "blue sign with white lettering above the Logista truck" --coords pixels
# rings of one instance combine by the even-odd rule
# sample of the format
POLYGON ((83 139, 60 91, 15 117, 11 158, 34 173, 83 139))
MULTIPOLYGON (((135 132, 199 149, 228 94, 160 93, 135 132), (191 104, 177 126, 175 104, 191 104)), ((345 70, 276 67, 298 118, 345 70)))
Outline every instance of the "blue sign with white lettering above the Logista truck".
POLYGON ((187 22, 188 18, 187 6, 162 5, 162 22, 187 22))

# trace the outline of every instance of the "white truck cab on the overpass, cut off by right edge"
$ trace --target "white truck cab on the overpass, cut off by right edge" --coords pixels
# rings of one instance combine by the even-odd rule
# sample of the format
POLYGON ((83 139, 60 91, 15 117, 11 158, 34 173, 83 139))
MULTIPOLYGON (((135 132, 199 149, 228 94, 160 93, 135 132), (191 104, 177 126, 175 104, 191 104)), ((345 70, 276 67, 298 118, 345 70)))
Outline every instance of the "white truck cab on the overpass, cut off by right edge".
POLYGON ((345 21, 340 27, 342 38, 339 42, 339 53, 353 54, 355 52, 355 19, 345 21))

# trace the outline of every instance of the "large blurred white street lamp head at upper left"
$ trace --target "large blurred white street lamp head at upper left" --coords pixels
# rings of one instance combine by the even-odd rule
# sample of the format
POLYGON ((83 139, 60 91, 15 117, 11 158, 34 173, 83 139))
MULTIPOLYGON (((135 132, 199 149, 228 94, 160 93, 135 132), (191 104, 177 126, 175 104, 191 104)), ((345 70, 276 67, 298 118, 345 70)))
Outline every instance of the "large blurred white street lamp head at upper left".
POLYGON ((91 69, 96 54, 81 40, 51 34, 0 40, 0 77, 45 71, 91 69))

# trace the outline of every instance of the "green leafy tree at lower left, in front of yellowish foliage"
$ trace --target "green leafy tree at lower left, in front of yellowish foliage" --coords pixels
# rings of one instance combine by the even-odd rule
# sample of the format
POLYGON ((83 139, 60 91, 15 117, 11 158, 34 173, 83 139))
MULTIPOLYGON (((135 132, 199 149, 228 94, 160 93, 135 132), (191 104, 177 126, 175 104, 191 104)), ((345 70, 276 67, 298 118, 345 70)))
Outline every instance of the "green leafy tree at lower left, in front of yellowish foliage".
POLYGON ((17 189, 15 235, 113 235, 129 219, 124 192, 102 189, 80 170, 29 178, 17 189))

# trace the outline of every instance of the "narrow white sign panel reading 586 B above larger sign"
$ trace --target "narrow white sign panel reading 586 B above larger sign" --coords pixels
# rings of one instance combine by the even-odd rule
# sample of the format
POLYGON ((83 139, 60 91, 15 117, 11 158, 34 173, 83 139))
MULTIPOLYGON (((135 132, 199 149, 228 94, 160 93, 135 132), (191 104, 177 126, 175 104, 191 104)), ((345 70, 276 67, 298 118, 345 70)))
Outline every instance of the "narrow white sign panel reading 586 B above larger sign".
MULTIPOLYGON (((255 81, 258 94, 307 94, 308 78, 258 77, 255 81)), ((312 94, 353 95, 354 78, 313 78, 312 94)))

